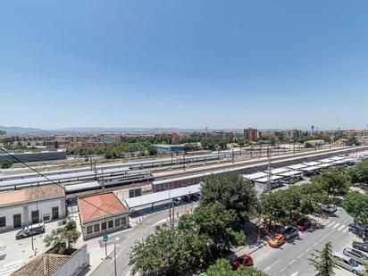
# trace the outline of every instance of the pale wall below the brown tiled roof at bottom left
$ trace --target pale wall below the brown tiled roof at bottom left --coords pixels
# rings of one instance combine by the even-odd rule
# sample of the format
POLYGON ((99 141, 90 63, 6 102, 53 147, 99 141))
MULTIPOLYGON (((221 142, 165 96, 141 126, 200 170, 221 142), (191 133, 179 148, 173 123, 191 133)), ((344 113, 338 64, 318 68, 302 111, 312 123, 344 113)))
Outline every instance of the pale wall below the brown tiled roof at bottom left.
POLYGON ((78 251, 74 252, 71 259, 65 263, 52 276, 76 276, 79 275, 89 265, 89 254, 87 252, 87 245, 80 247, 78 251))

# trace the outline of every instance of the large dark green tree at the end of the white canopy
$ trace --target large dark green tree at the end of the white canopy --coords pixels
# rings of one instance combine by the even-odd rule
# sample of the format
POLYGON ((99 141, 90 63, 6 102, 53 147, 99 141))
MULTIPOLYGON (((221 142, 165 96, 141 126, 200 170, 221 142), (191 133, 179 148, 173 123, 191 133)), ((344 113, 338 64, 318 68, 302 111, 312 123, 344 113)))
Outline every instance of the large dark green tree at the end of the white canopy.
POLYGON ((202 184, 201 205, 219 201, 225 209, 234 210, 240 219, 254 214, 257 206, 254 185, 238 173, 210 175, 202 184))

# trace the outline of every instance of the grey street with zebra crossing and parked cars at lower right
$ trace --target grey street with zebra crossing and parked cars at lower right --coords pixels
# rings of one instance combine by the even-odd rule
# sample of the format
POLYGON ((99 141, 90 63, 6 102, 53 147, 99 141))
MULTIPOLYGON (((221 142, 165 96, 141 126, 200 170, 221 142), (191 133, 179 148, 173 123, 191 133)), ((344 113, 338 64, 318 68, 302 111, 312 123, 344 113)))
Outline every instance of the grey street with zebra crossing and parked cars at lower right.
MULTIPOLYGON (((325 243, 332 242, 333 250, 342 252, 351 246, 352 240, 360 240, 348 231, 349 223, 353 222, 345 210, 339 208, 334 216, 320 220, 320 227, 314 230, 300 232, 299 238, 285 243, 280 248, 269 246, 255 251, 252 256, 255 267, 270 276, 309 276, 313 275, 314 267, 308 262, 314 249, 321 249, 325 243)), ((343 269, 338 269, 336 275, 350 275, 343 269)))

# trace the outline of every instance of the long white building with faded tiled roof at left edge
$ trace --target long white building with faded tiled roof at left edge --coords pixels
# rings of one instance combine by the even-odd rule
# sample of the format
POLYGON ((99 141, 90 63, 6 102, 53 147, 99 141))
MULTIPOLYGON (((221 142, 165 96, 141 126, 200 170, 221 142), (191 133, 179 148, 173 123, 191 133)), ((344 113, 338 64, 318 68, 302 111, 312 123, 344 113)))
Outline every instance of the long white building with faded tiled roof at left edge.
POLYGON ((0 192, 0 231, 65 216, 65 193, 57 185, 0 192))

